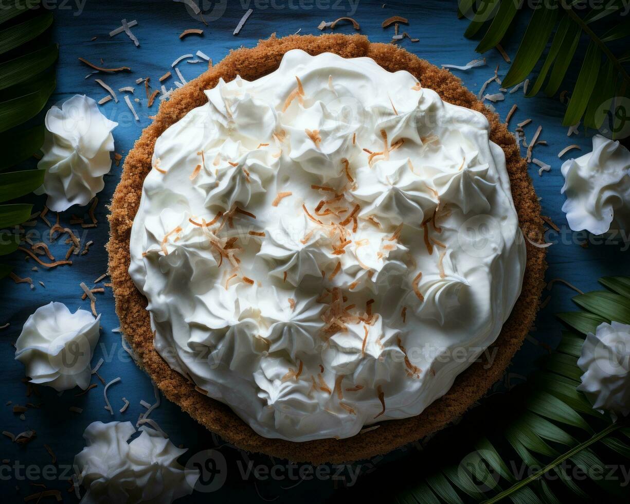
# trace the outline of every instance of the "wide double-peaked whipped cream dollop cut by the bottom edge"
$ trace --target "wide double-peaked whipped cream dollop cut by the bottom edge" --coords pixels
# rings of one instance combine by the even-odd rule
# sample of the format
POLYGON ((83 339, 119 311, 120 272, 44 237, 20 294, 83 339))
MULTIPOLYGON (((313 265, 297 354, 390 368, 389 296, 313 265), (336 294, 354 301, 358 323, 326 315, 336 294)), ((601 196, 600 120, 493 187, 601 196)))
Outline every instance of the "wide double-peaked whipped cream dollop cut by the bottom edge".
POLYGON ((86 447, 74 457, 79 484, 86 489, 82 504, 170 504, 192 493, 199 471, 177 462, 186 449, 156 430, 140 430, 129 442, 136 432, 129 421, 88 425, 86 447))

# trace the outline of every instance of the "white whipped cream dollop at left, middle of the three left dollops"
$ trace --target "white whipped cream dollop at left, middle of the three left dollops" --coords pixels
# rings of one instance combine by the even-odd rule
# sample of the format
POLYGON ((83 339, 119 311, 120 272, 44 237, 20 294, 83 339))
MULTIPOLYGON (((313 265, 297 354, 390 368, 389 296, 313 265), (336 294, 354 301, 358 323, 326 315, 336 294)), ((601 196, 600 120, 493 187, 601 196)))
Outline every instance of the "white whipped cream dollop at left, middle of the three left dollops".
POLYGON ((26 367, 31 383, 57 391, 86 389, 91 379, 90 361, 100 336, 100 320, 86 310, 71 313, 51 302, 35 310, 15 342, 15 358, 26 367))

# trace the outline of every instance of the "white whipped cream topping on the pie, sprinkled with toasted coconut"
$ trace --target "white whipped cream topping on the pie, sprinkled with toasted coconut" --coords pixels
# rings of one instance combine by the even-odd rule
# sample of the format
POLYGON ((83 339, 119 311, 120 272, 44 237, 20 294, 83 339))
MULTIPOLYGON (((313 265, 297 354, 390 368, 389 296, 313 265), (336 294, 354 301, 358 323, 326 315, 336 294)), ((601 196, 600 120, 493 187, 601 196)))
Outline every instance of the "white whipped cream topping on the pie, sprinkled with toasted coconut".
POLYGON ((130 274, 154 345, 266 437, 418 415, 498 336, 525 246, 480 113, 285 54, 157 139, 130 274))

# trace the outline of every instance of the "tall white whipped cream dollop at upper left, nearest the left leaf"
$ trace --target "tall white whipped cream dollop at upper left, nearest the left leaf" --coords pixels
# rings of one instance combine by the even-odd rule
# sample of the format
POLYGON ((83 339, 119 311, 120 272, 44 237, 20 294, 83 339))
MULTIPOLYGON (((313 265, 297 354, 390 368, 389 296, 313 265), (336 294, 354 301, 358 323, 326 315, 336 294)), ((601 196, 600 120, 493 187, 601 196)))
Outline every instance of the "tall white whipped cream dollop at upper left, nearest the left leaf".
POLYGON ((112 168, 112 130, 118 123, 106 118, 92 98, 74 95, 61 108, 50 108, 45 125, 37 168, 46 174, 35 193, 46 193, 46 205, 54 212, 87 205, 103 190, 103 176, 112 168))

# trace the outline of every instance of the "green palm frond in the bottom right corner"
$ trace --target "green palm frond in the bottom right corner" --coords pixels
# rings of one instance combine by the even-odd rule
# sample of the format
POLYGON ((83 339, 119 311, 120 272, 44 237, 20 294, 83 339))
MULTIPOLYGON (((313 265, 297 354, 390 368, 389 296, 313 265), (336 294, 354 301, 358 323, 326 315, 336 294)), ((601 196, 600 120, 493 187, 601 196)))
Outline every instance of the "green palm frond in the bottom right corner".
POLYGON ((610 290, 574 298, 587 311, 563 314, 571 330, 563 331, 556 350, 541 360, 526 384, 486 398, 457 427, 438 433, 427 449, 390 464, 363 488, 353 488, 353 498, 357 490, 374 498, 390 474, 405 482, 402 488, 386 486, 400 503, 559 503, 590 500, 593 491, 627 497, 621 481, 601 476, 609 467, 630 463, 628 421, 615 423, 593 410, 576 389, 585 333, 602 321, 624 318, 630 306, 630 277, 600 282, 610 290), (574 478, 568 467, 583 478, 574 478))

